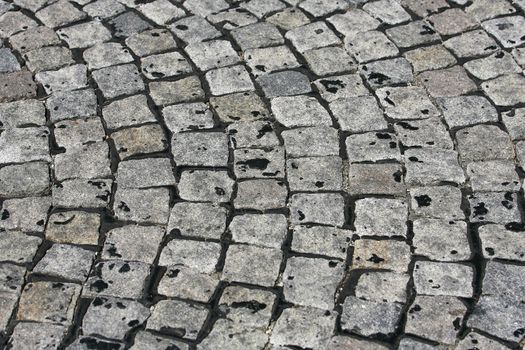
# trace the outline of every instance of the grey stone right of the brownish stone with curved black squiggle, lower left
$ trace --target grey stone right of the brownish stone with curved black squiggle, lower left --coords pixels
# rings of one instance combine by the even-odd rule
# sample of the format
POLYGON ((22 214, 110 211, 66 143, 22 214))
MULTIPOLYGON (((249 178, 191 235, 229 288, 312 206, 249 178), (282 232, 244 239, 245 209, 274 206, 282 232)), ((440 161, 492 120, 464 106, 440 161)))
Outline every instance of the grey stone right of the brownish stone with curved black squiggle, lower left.
POLYGON ((126 225, 106 233, 101 258, 153 264, 165 234, 159 226, 126 225))

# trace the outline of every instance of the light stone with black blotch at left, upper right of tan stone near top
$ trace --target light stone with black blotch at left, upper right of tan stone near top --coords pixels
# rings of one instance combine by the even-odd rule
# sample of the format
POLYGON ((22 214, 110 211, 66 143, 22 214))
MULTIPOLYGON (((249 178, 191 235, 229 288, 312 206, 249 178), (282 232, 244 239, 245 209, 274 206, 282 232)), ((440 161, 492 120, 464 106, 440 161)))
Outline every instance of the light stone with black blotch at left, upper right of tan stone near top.
POLYGON ((221 35, 207 20, 200 16, 190 16, 170 25, 171 31, 182 41, 191 44, 214 39, 221 35))

